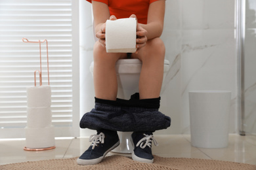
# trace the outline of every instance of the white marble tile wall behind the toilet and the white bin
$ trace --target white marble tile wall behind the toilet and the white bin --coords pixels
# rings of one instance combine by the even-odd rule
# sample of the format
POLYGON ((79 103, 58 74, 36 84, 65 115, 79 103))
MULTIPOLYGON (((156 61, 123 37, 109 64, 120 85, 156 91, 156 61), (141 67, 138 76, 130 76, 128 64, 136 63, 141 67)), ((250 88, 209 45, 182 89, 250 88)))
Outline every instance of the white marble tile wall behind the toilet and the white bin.
MULTIPOLYGON (((167 0, 161 39, 171 67, 161 90, 160 111, 172 118, 171 127, 157 134, 190 133, 188 92, 230 90, 230 133, 237 131, 237 69, 235 0, 167 0)), ((91 5, 80 1, 81 114, 94 106, 91 5), (83 19, 82 19, 83 18, 83 19), (86 19, 85 19, 86 18, 86 19), (86 23, 85 23, 86 22, 86 23), (82 75, 82 74, 81 74, 82 75)), ((81 136, 87 136, 82 130, 81 136)))

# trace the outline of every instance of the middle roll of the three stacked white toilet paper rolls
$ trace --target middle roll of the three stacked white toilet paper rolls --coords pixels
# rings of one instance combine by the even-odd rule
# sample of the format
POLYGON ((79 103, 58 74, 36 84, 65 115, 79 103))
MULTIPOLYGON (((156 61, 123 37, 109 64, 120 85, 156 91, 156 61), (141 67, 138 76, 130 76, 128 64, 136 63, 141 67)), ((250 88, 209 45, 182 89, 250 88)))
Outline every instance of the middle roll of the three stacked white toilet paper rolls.
POLYGON ((51 107, 27 108, 27 127, 49 127, 51 124, 51 107))

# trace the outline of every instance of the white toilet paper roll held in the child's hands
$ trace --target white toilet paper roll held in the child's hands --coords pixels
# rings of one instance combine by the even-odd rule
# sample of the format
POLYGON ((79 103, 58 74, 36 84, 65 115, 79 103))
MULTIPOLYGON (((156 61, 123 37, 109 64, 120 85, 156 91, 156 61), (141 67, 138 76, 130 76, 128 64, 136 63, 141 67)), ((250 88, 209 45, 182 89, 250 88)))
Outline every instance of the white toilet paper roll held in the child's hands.
POLYGON ((136 52, 137 20, 122 18, 106 21, 106 52, 136 52))

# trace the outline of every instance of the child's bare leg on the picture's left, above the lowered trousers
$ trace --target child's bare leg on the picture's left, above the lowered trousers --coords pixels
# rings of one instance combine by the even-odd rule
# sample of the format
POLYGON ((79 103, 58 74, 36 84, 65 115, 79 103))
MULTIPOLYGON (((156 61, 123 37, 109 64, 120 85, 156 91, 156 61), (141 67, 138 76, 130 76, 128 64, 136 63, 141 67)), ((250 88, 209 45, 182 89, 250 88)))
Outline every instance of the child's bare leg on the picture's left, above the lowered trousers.
POLYGON ((125 57, 126 54, 107 53, 104 46, 99 42, 95 43, 93 50, 95 97, 99 99, 116 100, 116 61, 125 57))

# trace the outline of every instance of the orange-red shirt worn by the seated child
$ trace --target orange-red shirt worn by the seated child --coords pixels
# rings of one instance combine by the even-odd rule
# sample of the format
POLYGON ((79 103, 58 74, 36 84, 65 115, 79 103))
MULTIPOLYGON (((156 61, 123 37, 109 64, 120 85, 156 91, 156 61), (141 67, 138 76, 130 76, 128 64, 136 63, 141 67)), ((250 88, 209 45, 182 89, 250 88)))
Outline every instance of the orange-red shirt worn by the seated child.
MULTIPOLYGON (((91 3, 92 0, 86 0, 91 3)), ((137 16, 140 24, 147 24, 148 7, 150 3, 158 0, 94 0, 101 3, 106 3, 110 9, 110 16, 115 15, 119 18, 129 18, 131 14, 137 16)))

